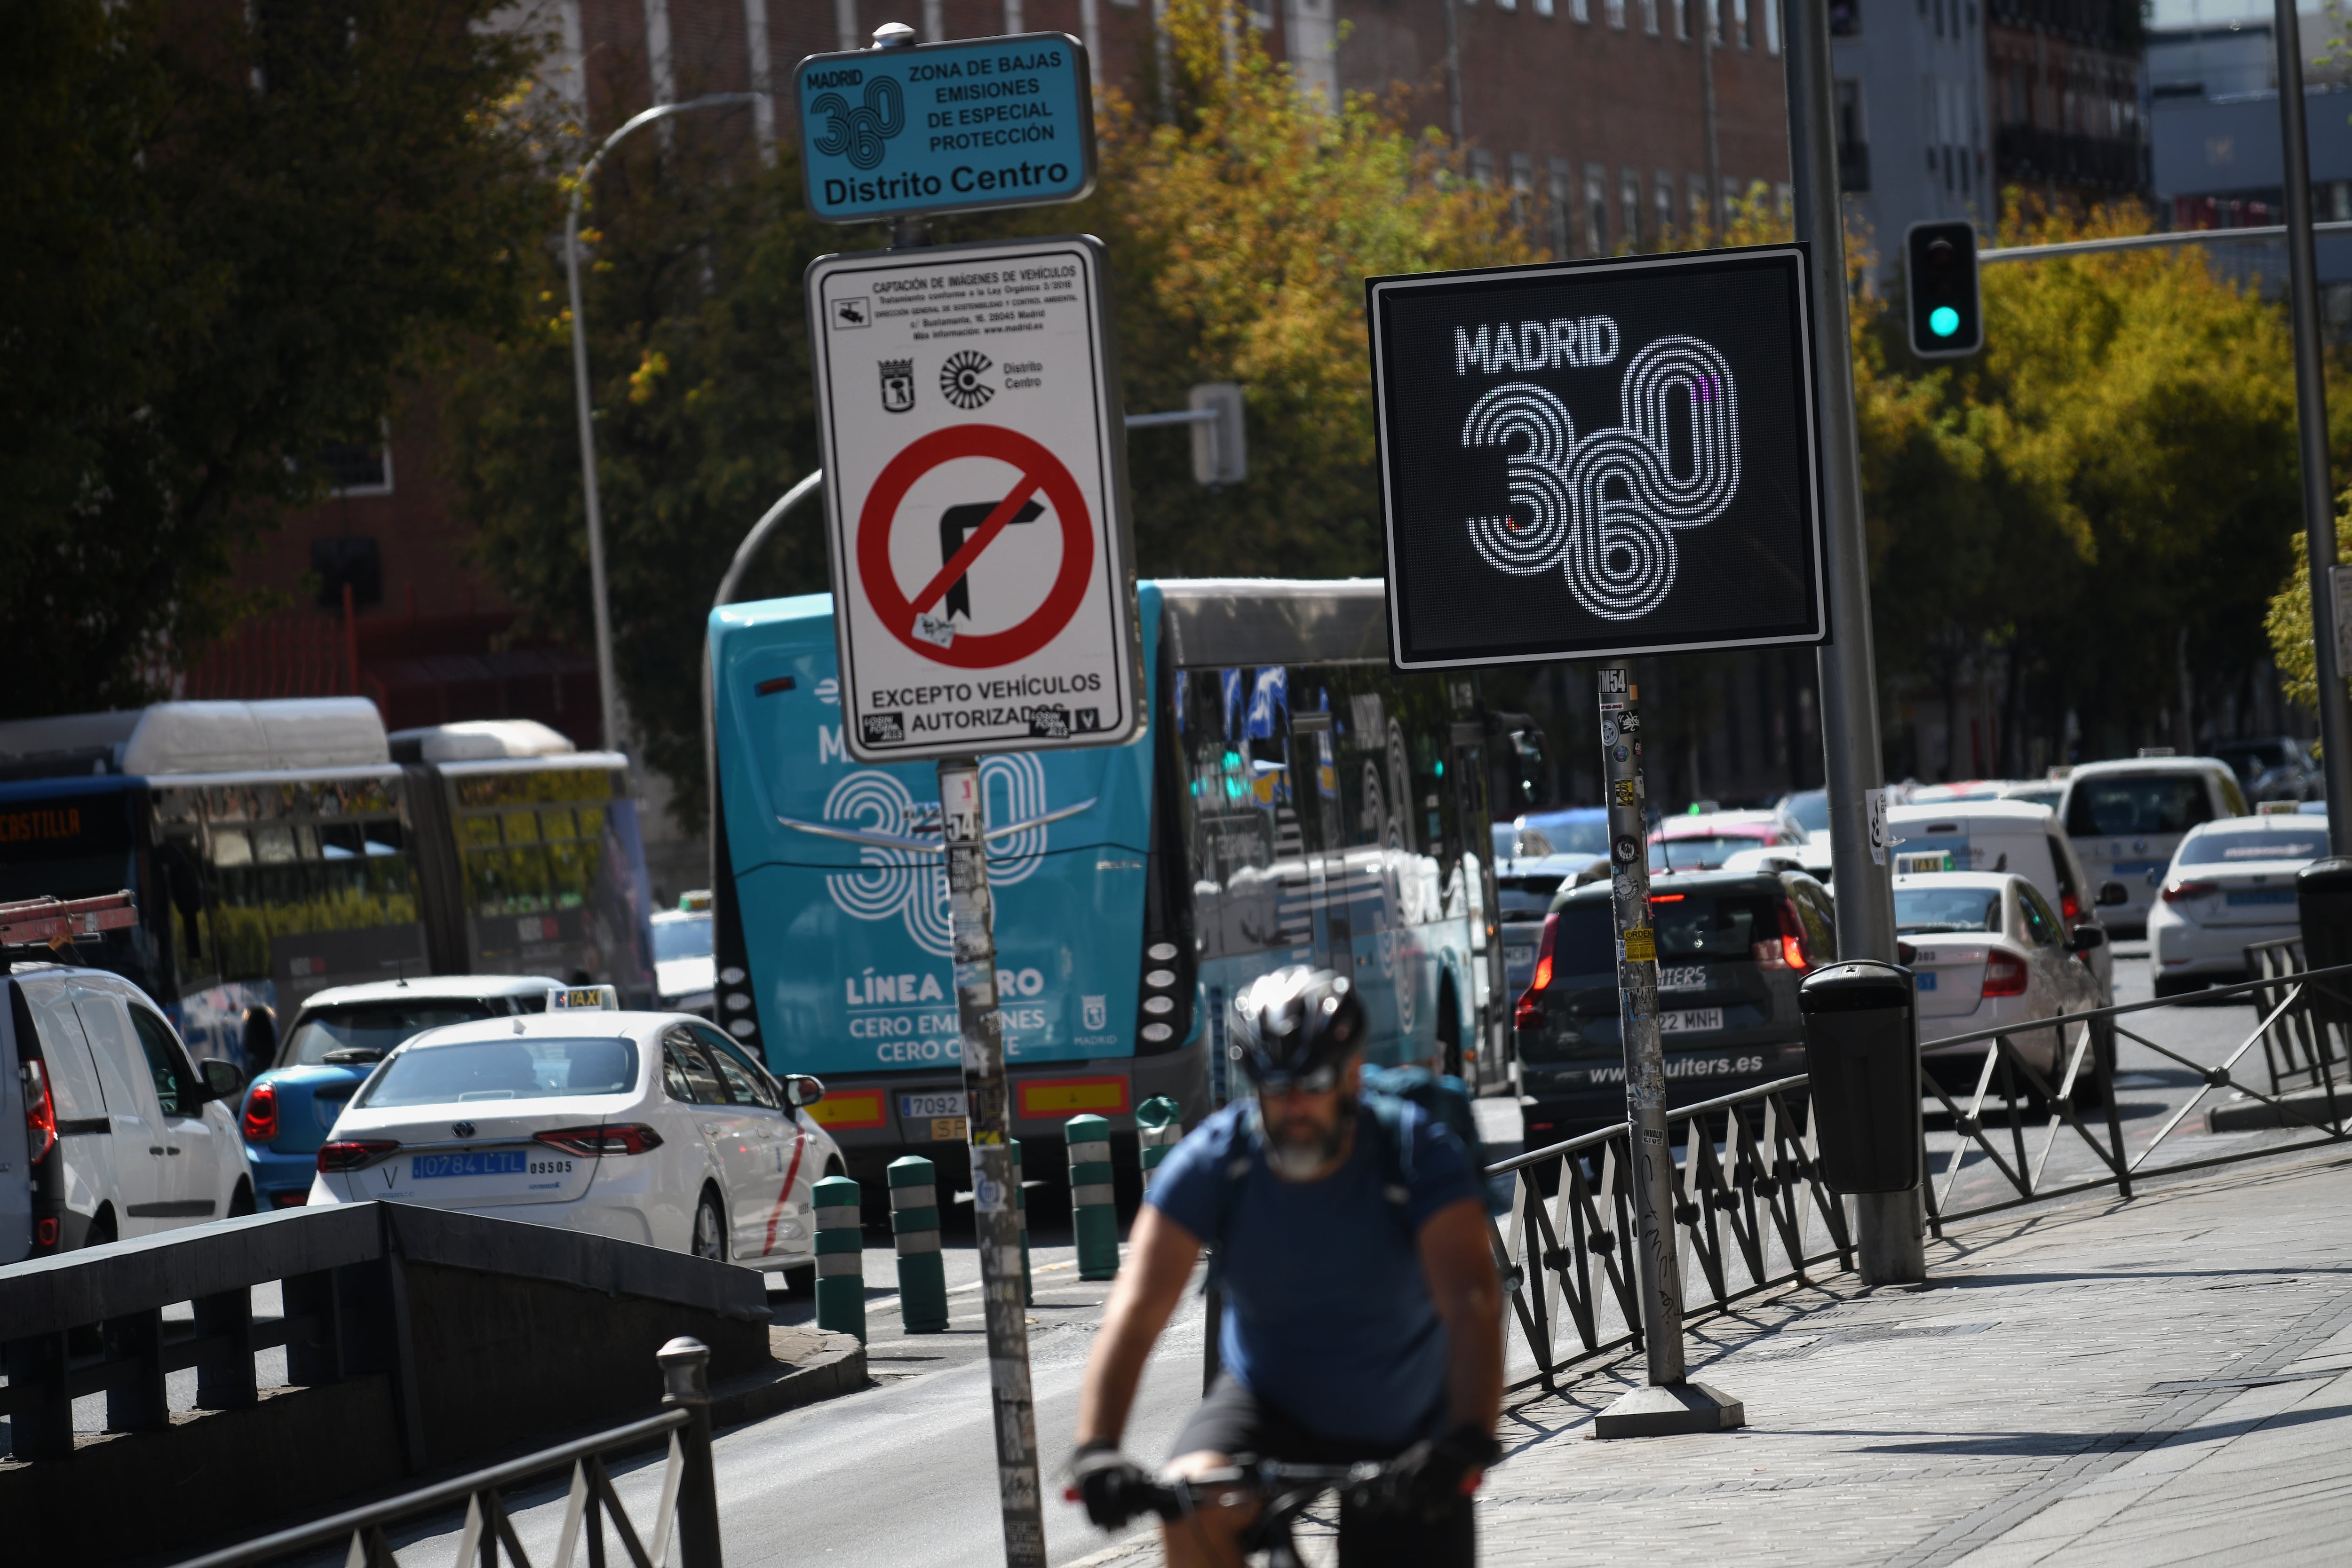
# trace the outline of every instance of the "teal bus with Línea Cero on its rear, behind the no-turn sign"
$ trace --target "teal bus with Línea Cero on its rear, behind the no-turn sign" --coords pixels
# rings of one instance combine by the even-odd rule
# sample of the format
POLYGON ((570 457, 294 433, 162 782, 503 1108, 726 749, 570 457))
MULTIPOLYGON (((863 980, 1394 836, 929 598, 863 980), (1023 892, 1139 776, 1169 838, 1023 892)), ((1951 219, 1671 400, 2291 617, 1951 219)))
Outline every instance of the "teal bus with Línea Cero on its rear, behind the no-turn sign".
MULTIPOLYGON (((1388 668, 1378 581, 1141 585, 1148 731, 985 757, 997 994, 1014 1133, 1061 1175, 1061 1128, 1230 1091, 1232 994, 1284 964, 1352 973, 1371 1060, 1505 1072, 1484 715, 1468 677, 1388 668), (1058 816, 1082 806, 1070 816, 1058 816), (1054 818, 1054 820, 1047 820, 1054 818), (1025 827, 1023 827, 1025 825, 1025 827), (1047 1145, 1047 1147, 1040 1147, 1047 1145)), ((931 764, 842 748, 830 595, 710 614, 717 1018, 877 1192, 915 1152, 969 1171, 931 764)))

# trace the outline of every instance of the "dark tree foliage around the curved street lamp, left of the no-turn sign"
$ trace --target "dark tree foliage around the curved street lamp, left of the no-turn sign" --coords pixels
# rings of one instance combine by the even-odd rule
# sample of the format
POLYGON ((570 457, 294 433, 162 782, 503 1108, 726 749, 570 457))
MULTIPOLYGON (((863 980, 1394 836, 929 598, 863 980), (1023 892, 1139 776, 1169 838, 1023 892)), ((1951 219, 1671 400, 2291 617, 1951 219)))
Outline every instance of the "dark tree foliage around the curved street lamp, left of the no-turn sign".
MULTIPOLYGON (((816 468, 802 273, 842 233, 807 216, 788 148, 741 153, 720 115, 640 132, 595 176, 583 240, 597 489, 621 698, 647 762, 699 820, 703 618, 750 524, 816 468), (717 125, 713 125, 717 120, 717 125)), ((593 646, 588 522, 562 247, 524 331, 487 348, 449 402, 459 510, 529 623, 593 646)), ((814 505, 769 548, 750 597, 826 585, 814 505)))

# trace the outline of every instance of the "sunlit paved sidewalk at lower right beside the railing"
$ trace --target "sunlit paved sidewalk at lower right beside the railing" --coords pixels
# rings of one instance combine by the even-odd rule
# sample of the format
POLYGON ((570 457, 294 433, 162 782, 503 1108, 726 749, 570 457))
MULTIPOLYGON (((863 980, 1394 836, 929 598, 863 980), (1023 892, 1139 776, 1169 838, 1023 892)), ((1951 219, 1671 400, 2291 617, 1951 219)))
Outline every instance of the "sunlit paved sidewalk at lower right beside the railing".
POLYGON ((1980 1220, 1929 1269, 1703 1321, 1745 1432, 1588 1441, 1639 1361, 1510 1396, 1482 1561, 2352 1561, 2352 1159, 1980 1220))

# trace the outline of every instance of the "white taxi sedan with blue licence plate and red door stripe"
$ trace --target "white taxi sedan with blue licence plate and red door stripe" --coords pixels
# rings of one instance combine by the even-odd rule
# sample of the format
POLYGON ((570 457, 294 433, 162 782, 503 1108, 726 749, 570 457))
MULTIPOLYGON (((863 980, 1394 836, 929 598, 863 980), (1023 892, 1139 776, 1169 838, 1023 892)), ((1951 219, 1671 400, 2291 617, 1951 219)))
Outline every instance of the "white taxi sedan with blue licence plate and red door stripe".
POLYGON ((757 1269, 816 1265, 809 1190, 844 1168, 776 1081, 682 1013, 555 1009, 426 1030, 318 1152, 313 1204, 388 1199, 642 1241, 757 1269))

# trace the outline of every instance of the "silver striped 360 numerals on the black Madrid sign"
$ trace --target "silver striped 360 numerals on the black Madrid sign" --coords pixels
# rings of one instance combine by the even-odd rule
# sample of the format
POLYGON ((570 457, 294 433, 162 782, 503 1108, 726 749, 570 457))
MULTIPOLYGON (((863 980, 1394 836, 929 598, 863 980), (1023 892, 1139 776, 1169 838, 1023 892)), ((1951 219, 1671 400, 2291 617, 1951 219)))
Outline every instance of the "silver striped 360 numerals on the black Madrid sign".
MULTIPOLYGON (((1541 324, 1531 322, 1541 331, 1541 324)), ((1510 331, 1510 327, 1498 327, 1510 331)), ((1479 329, 1479 339, 1486 331, 1479 329)), ((1522 362, 1541 364, 1543 355, 1522 362)), ((1463 447, 1512 447, 1503 461, 1512 512, 1468 520, 1470 543, 1496 571, 1564 571, 1576 602, 1604 621, 1639 621, 1675 590, 1675 536, 1715 522, 1740 482, 1738 395, 1731 364, 1691 336, 1658 339, 1625 362, 1623 423, 1576 440, 1569 409, 1531 381, 1484 393, 1463 421, 1463 447), (1691 470, 1675 473, 1675 393, 1691 421, 1691 470)))

